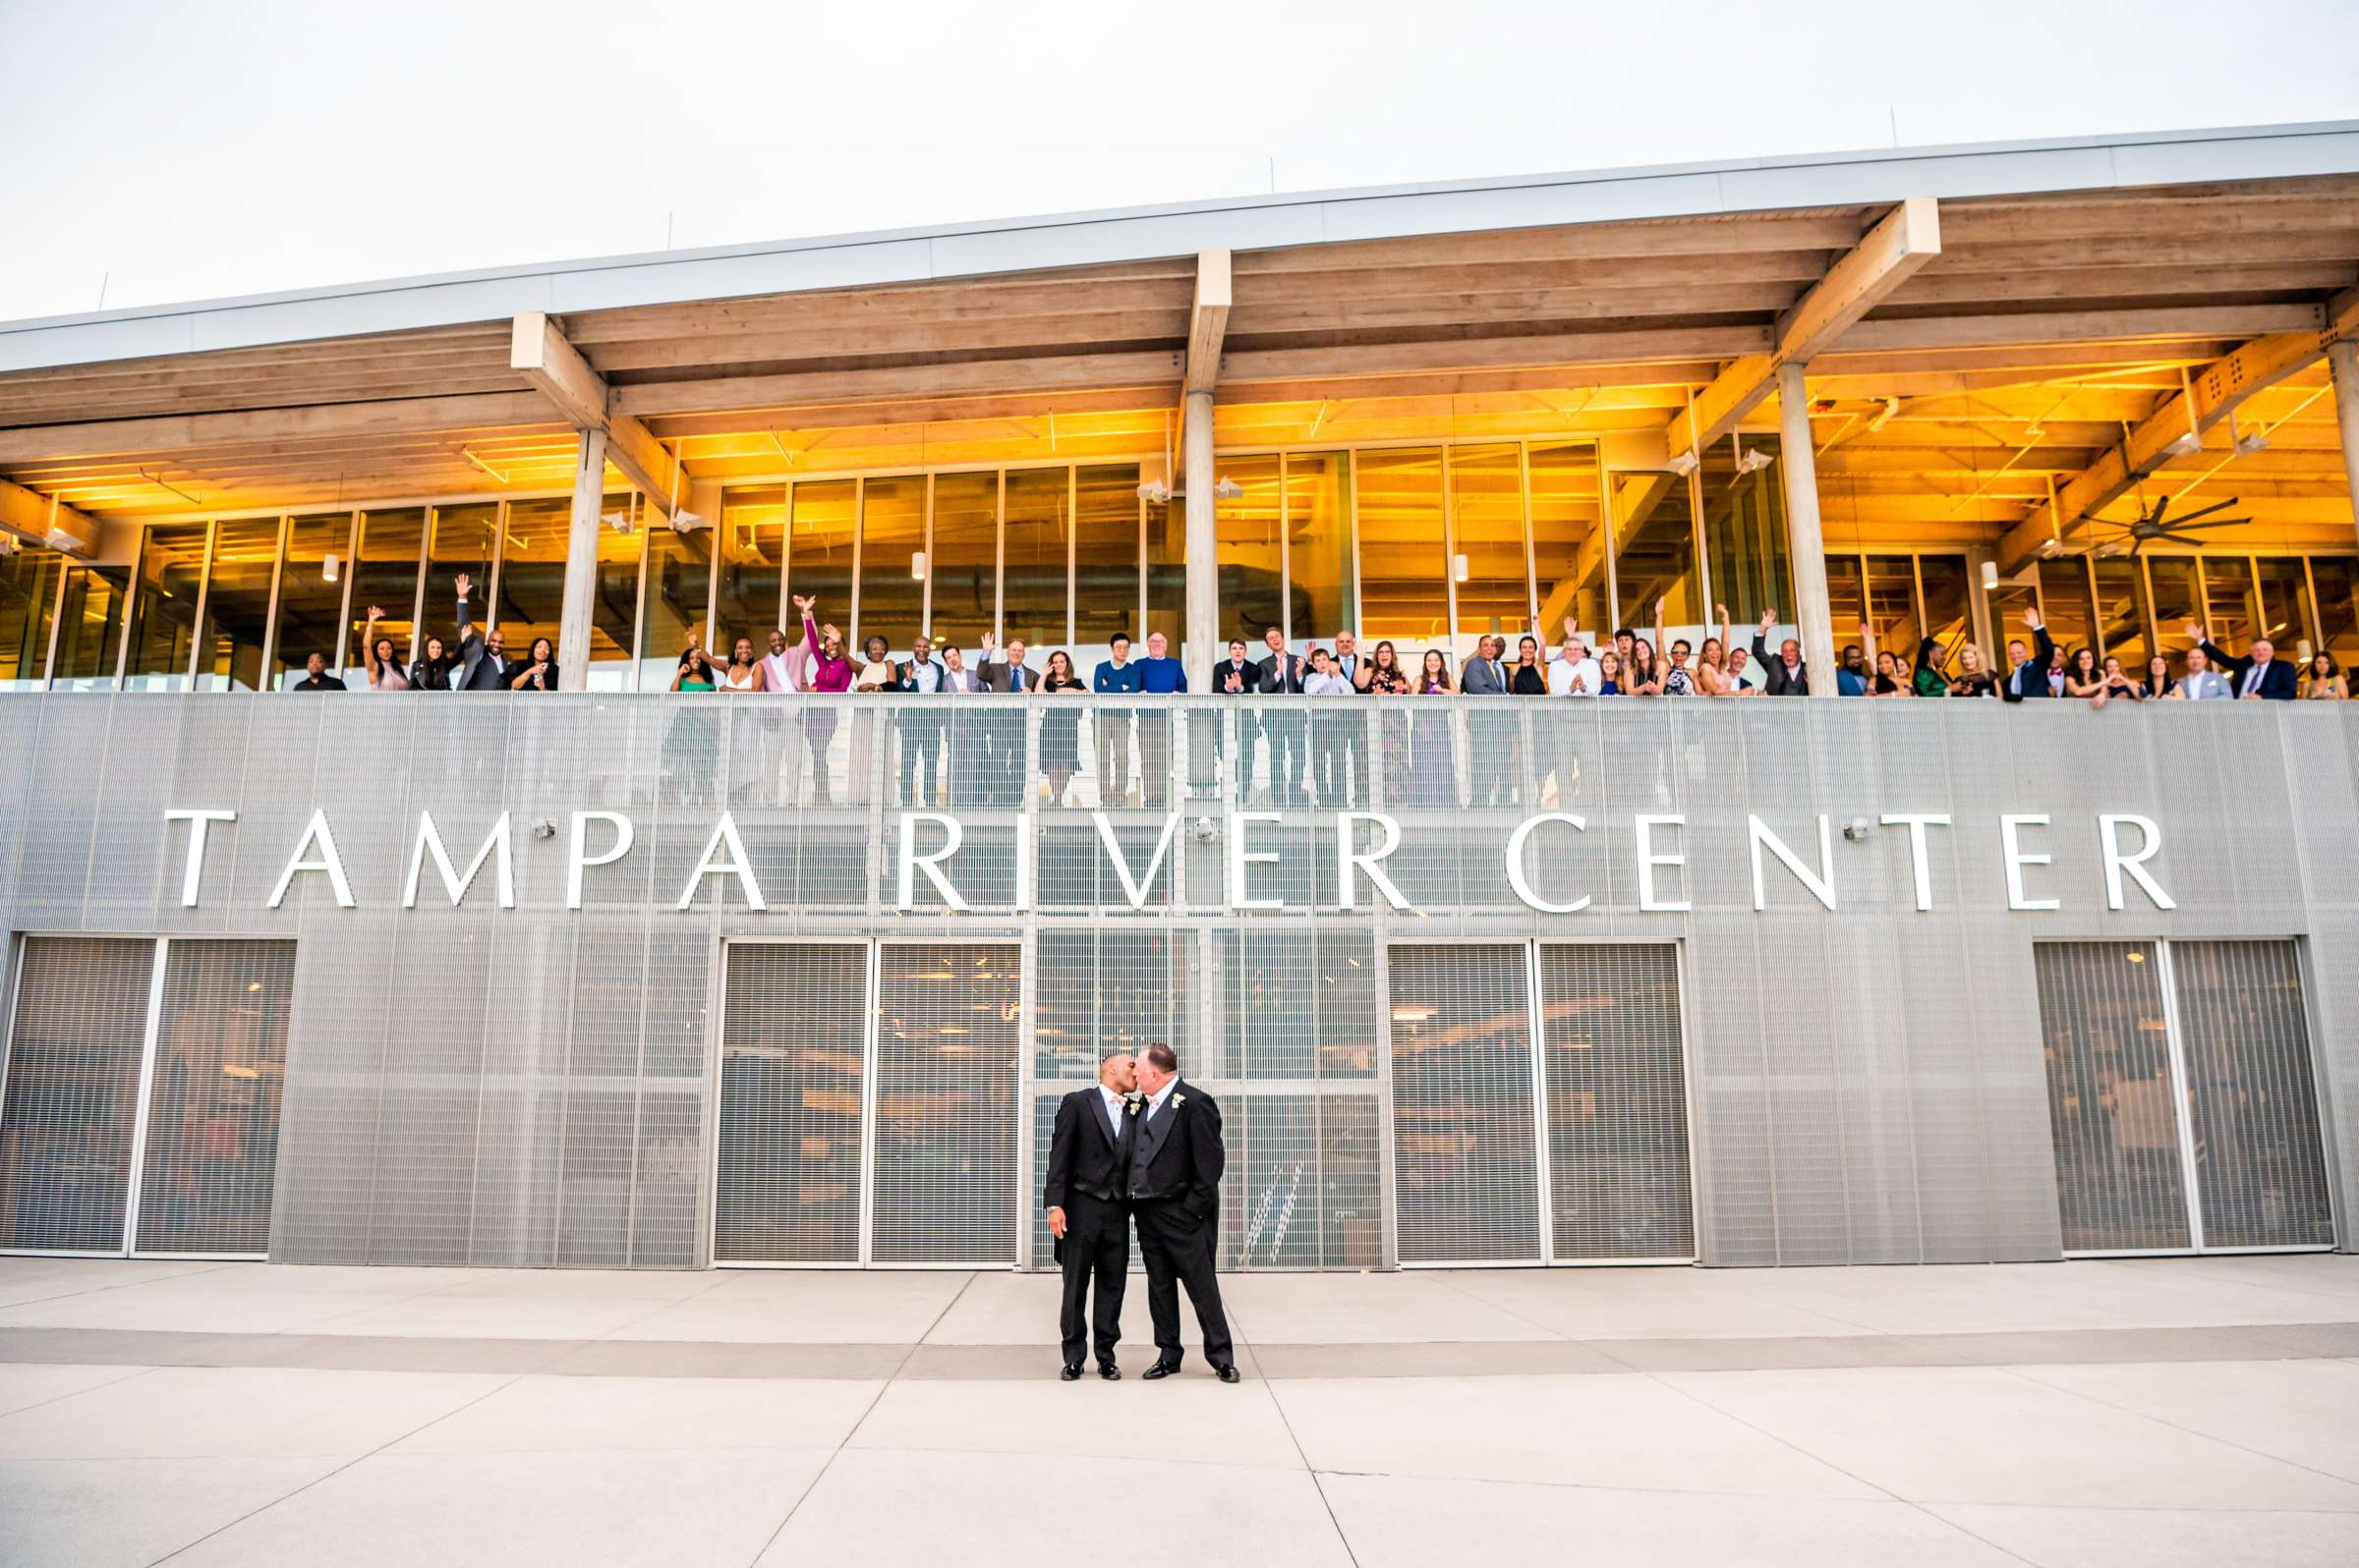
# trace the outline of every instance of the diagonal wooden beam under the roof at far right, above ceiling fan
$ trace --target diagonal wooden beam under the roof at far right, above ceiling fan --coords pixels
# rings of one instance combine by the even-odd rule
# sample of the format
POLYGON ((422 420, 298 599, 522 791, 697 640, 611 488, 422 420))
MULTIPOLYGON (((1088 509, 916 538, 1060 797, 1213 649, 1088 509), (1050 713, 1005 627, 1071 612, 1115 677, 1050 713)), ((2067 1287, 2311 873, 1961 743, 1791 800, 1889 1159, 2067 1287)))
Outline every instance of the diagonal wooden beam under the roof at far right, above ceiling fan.
POLYGON ((2137 481, 2173 457, 2189 455, 2203 434, 2236 413, 2255 391, 2307 370, 2331 344, 2359 337, 2359 288, 2326 304, 2321 323, 2305 332, 2269 332, 2187 377, 2182 391, 2163 396, 2121 443, 2057 488, 2057 505, 2033 507, 1998 542, 1998 571, 2012 573, 2043 547, 2066 540, 2095 512, 2137 488, 2137 481))

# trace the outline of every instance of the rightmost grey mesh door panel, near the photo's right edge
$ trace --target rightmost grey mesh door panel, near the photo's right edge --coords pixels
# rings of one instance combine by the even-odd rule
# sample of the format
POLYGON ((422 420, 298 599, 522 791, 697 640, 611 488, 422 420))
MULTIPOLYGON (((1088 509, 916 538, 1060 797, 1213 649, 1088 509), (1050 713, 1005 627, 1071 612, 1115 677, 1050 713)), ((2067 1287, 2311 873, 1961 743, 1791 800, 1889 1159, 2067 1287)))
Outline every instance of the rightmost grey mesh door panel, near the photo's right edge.
POLYGON ((2206 1247, 2328 1247, 2326 1148, 2291 941, 2170 943, 2206 1247))

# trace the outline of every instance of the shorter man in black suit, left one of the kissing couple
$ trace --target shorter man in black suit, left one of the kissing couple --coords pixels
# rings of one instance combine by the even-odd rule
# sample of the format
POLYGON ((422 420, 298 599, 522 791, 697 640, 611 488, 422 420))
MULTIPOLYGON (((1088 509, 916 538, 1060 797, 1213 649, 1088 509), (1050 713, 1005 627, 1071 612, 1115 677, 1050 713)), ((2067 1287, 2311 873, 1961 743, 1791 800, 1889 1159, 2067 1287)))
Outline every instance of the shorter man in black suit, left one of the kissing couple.
POLYGON ((1097 1375, 1109 1382, 1123 1375, 1113 1365, 1113 1346, 1123 1337, 1123 1283, 1130 1273, 1130 1203, 1123 1188, 1130 1184, 1130 1155, 1139 1134, 1132 1099, 1137 1087, 1137 1063, 1116 1052, 1097 1063, 1097 1087, 1073 1089, 1057 1103, 1040 1203, 1064 1269, 1064 1306, 1057 1318, 1064 1335, 1057 1377, 1064 1382, 1080 1377, 1080 1353, 1092 1335, 1097 1375), (1085 1316, 1092 1278, 1097 1311, 1085 1316))

